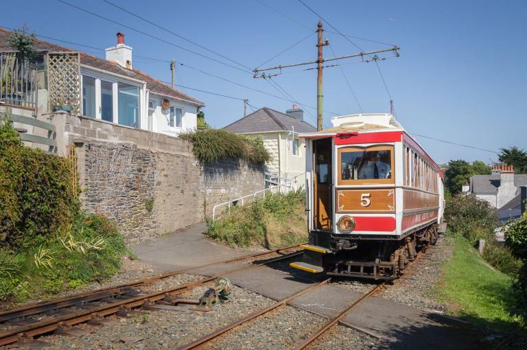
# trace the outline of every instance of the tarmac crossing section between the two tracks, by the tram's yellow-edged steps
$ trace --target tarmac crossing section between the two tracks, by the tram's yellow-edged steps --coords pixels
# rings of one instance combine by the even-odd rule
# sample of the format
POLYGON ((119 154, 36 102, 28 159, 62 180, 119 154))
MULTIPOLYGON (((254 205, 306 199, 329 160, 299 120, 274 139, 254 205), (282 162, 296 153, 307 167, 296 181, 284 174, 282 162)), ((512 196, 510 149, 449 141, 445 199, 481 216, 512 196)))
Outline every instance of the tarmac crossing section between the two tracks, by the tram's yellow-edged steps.
POLYGON ((314 281, 295 277, 268 266, 249 268, 226 275, 237 286, 253 290, 274 300, 282 300, 305 288, 309 288, 314 281))

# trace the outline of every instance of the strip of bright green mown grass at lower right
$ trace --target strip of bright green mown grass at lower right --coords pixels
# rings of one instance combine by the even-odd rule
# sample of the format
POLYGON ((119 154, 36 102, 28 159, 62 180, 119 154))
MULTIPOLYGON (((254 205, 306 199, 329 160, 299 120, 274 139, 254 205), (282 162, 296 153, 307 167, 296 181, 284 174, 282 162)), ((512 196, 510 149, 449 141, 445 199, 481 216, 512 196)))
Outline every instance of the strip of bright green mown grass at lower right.
POLYGON ((450 314, 482 327, 513 330, 517 320, 509 316, 515 308, 512 277, 492 268, 465 238, 456 236, 454 245, 438 290, 450 314))

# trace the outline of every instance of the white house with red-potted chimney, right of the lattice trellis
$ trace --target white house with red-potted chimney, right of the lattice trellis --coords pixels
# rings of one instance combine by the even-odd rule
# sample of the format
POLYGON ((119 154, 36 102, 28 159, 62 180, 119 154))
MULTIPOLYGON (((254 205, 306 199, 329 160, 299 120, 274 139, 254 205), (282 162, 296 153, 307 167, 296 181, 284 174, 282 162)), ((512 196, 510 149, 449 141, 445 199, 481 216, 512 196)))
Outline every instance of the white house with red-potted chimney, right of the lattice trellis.
POLYGON ((132 47, 117 33, 106 60, 80 54, 82 115, 177 136, 196 129, 204 103, 132 66, 132 47))

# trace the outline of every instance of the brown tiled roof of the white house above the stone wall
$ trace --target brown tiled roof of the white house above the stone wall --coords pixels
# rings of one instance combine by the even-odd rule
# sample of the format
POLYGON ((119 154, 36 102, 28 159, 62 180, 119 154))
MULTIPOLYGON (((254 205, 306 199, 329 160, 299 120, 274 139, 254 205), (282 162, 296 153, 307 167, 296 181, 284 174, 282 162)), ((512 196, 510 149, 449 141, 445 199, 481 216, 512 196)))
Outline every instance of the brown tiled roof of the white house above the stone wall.
MULTIPOLYGON (((0 52, 13 51, 13 48, 8 45, 8 38, 10 34, 10 31, 0 28, 0 52)), ((56 45, 43 40, 36 40, 34 49, 36 49, 37 51, 51 52, 77 52, 77 50, 69 49, 68 47, 62 47, 60 45, 56 45)), ((195 99, 194 97, 190 97, 189 95, 186 95, 175 88, 171 88, 170 86, 159 81, 158 79, 150 77, 150 75, 139 71, 139 69, 137 68, 133 68, 132 70, 126 69, 124 67, 119 66, 117 62, 104 60, 103 58, 98 58, 94 55, 89 55, 84 52, 80 53, 80 64, 102 69, 103 71, 115 73, 123 77, 130 77, 132 79, 141 80, 142 82, 146 83, 146 86, 150 91, 159 95, 172 97, 174 99, 182 99, 185 101, 189 101, 190 103, 194 103, 196 105, 204 105, 202 101, 195 99)))

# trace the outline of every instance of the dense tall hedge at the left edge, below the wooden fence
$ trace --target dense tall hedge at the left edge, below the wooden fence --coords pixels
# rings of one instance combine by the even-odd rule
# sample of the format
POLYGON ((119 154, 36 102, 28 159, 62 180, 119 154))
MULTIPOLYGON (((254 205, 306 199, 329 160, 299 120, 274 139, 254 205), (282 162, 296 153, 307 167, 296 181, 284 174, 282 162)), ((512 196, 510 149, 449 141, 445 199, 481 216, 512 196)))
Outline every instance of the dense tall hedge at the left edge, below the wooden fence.
POLYGON ((79 207, 73 188, 68 159, 24 147, 0 121, 0 246, 32 247, 69 225, 79 207))

